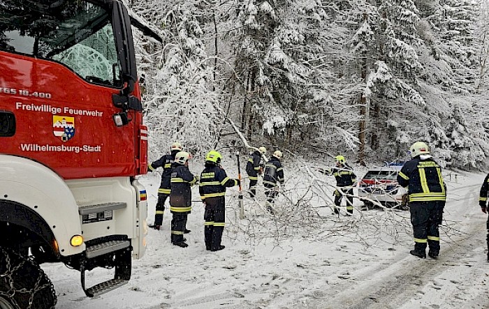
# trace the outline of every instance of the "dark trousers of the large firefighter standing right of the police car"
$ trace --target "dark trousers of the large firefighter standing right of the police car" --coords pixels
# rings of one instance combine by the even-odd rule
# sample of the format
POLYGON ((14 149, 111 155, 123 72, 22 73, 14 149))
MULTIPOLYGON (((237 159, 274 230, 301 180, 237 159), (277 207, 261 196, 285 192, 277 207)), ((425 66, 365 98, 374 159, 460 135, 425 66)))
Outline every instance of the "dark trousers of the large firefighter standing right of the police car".
POLYGON ((438 254, 440 250, 438 226, 443 220, 445 202, 410 202, 411 224, 413 225, 414 249, 438 254))

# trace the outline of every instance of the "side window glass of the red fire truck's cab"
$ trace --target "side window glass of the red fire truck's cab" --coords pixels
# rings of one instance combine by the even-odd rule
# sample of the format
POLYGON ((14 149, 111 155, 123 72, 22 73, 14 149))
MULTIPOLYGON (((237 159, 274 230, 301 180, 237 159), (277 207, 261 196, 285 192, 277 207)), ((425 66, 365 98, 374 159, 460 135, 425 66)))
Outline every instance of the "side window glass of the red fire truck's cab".
POLYGON ((0 0, 0 51, 57 61, 87 82, 119 88, 111 16, 88 1, 0 0))

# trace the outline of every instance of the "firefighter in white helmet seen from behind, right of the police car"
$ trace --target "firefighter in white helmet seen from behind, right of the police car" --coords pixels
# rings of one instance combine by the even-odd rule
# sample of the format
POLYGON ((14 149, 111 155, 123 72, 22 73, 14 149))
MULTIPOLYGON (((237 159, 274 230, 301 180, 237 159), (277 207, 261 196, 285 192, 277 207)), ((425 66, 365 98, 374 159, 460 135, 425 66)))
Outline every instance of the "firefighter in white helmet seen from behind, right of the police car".
POLYGON ((439 255, 439 229, 446 201, 446 186, 441 168, 430 155, 425 142, 415 142, 409 148, 412 159, 397 175, 400 186, 408 187, 414 250, 411 255, 436 259, 439 255))

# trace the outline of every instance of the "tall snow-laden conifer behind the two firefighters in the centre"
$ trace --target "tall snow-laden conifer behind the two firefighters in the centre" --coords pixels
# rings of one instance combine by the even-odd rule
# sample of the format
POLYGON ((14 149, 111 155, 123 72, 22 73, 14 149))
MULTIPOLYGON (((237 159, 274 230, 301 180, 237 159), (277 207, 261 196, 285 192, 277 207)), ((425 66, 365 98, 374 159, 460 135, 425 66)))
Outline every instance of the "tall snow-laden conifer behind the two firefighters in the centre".
POLYGON ((304 137, 307 128, 298 128, 317 112, 326 17, 316 1, 238 1, 239 27, 230 36, 248 136, 264 133, 278 143, 304 137))

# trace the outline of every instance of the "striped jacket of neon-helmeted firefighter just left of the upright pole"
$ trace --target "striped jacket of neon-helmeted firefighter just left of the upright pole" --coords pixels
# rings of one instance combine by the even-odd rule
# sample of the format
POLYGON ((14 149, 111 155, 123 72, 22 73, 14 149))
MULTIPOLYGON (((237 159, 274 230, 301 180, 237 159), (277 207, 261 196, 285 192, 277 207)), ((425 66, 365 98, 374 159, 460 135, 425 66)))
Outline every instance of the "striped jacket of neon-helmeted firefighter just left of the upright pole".
POLYGON ((207 197, 224 197, 226 187, 233 186, 238 186, 238 180, 229 178, 220 166, 205 165, 205 169, 200 174, 198 192, 203 200, 207 197))

